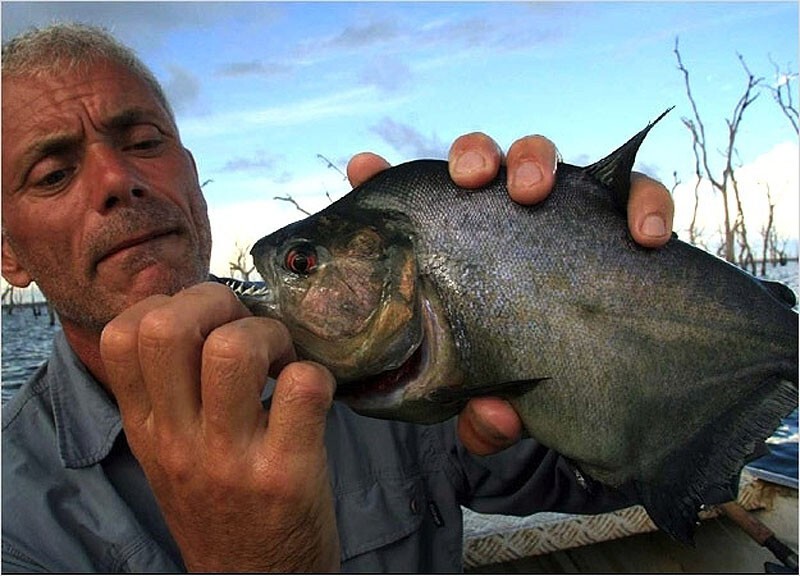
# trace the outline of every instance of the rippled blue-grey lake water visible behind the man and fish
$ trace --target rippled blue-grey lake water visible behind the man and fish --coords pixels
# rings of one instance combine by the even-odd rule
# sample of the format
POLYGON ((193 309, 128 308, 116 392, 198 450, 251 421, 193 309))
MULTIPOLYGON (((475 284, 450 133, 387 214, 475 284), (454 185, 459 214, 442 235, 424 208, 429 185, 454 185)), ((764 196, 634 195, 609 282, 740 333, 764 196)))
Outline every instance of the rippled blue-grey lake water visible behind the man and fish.
MULTIPOLYGON (((798 290, 798 265, 767 269, 767 277, 780 280, 795 292, 798 290)), ((17 308, 14 314, 2 316, 2 401, 14 395, 19 387, 50 355, 53 335, 60 330, 58 322, 50 326, 47 313, 34 316, 30 308, 17 308)), ((771 454, 750 464, 751 470, 767 479, 797 487, 798 477, 798 414, 786 417, 768 440, 771 454)))

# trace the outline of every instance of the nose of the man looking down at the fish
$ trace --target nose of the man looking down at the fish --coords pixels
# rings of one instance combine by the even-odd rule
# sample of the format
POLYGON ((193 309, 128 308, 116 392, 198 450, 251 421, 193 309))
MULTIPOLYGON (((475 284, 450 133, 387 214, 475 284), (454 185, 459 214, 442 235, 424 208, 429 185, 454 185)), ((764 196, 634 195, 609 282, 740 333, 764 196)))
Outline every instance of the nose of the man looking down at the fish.
POLYGON ((135 165, 123 151, 114 146, 97 143, 87 154, 89 186, 92 204, 98 212, 130 205, 134 198, 145 194, 145 186, 135 165))

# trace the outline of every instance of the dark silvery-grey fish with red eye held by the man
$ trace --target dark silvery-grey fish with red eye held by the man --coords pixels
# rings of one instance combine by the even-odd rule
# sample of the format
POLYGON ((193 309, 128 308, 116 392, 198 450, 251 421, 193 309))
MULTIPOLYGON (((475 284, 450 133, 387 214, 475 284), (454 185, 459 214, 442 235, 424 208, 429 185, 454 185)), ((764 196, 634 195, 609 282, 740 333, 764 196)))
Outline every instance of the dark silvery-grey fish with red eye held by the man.
POLYGON ((444 161, 389 168, 260 239, 263 283, 229 285, 356 412, 431 424, 507 398, 576 474, 634 490, 690 542, 708 495, 797 407, 798 316, 782 284, 674 234, 630 236, 631 170, 667 112, 594 164, 559 163, 533 206, 503 169, 467 190, 444 161))

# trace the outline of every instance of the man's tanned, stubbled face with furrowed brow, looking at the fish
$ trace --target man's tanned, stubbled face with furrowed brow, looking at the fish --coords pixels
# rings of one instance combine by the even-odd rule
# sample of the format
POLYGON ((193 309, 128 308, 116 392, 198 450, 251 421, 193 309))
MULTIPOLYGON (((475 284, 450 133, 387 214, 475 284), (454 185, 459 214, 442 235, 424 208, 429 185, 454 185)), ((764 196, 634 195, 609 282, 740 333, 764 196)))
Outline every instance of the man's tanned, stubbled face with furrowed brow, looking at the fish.
POLYGON ((65 327, 99 331, 152 294, 205 280, 194 161, 143 81, 86 72, 3 78, 3 276, 35 281, 65 327))

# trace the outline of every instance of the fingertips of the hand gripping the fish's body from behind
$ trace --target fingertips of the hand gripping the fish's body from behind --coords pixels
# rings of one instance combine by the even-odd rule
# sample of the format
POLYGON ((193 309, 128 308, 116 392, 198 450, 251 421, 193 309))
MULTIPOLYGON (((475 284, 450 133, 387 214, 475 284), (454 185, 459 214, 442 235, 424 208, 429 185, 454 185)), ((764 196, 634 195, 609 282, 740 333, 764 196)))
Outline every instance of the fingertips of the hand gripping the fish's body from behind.
MULTIPOLYGON (((508 167, 508 193, 516 202, 535 204, 544 200, 553 188, 558 153, 555 145, 543 136, 526 136, 514 142, 504 159, 494 140, 481 133, 456 139, 448 158, 450 176, 464 188, 488 184, 500 165, 508 167)), ((368 180, 389 167, 380 156, 362 153, 347 166, 353 186, 368 180)), ((667 243, 672 233, 674 206, 667 189, 644 174, 631 176, 628 200, 628 228, 634 240, 648 248, 667 243)), ((491 454, 519 440, 522 423, 505 400, 473 398, 458 420, 461 441, 474 454, 491 454)))

